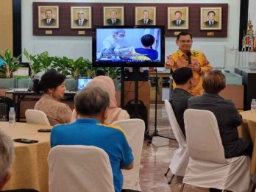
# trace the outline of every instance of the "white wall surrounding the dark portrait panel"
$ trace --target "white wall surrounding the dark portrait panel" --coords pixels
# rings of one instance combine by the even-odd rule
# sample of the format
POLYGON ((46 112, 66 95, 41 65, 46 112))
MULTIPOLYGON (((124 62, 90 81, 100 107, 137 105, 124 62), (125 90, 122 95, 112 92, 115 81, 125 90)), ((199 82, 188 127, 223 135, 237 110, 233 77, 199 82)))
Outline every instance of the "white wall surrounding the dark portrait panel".
MULTIPOLYGON (((32 35, 32 2, 40 2, 42 0, 26 0, 21 1, 22 4, 22 49, 26 48, 31 54, 38 54, 42 51, 49 51, 52 56, 66 56, 76 59, 77 57, 85 57, 92 60, 92 41, 91 37, 49 37, 49 36, 33 36, 32 35)), ((102 0, 87 2, 123 2, 124 0, 102 0)), ((43 2, 51 2, 45 0, 43 2)), ((71 2, 70 0, 54 0, 54 2, 71 2)), ((85 0, 76 0, 74 2, 85 2, 85 0)), ((127 1, 124 1, 124 3, 127 1)), ((137 3, 138 0, 129 0, 129 3, 137 3)), ((141 0, 142 3, 154 3, 154 0, 141 0)), ((174 0, 161 0, 159 3, 177 3, 174 0)), ((235 67, 235 51, 234 48, 239 46, 239 20, 240 20, 240 0, 180 0, 179 3, 228 3, 228 28, 227 38, 193 38, 193 49, 204 51, 210 63, 214 66, 222 65, 230 71, 234 71, 235 67), (231 50, 232 49, 232 50, 231 50)), ((166 56, 173 51, 177 51, 174 43, 175 38, 166 38, 166 56)), ((26 58, 25 58, 26 59, 26 58)), ((24 60, 26 61, 26 60, 24 60)))

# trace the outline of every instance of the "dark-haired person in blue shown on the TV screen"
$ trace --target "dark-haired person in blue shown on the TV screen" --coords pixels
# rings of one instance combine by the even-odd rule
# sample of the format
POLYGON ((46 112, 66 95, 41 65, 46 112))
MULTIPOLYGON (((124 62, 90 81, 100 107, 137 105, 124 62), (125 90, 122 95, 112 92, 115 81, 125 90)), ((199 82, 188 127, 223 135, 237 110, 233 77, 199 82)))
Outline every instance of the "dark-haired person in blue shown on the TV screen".
POLYGON ((136 48, 135 54, 138 56, 133 57, 134 60, 157 60, 158 51, 152 49, 154 44, 154 36, 150 34, 141 37, 142 48, 136 48))

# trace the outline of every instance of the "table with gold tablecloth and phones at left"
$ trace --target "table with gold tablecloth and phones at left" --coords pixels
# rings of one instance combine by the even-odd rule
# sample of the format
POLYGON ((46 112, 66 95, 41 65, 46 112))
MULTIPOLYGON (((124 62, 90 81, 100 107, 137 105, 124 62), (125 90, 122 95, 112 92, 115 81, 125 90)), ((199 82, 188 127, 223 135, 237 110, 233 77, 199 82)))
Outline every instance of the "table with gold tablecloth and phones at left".
POLYGON ((4 190, 33 188, 40 192, 48 192, 47 157, 51 149, 50 132, 38 132, 38 129, 51 129, 51 126, 26 123, 9 126, 8 122, 0 122, 0 128, 12 139, 27 138, 39 141, 31 144, 14 142, 12 177, 4 186, 4 190))

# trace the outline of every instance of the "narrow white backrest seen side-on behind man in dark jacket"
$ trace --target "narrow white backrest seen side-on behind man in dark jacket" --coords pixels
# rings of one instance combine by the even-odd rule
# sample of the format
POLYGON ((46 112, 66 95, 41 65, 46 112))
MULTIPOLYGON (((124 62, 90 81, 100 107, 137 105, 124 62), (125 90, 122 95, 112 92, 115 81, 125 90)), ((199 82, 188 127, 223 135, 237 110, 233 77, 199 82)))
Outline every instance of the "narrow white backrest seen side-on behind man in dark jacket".
POLYGON ((187 146, 185 136, 183 135, 182 130, 180 129, 179 124, 177 122, 177 118, 174 115, 174 110, 171 107, 171 103, 167 99, 165 99, 165 107, 171 125, 171 129, 174 132, 174 137, 178 141, 179 146, 187 146))

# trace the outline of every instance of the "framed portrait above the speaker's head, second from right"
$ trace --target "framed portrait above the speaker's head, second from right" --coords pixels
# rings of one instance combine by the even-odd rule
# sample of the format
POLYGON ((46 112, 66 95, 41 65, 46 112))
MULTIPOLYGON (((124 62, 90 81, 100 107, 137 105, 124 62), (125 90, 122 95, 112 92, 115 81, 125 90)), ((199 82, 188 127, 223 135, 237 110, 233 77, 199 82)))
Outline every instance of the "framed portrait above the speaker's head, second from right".
POLYGON ((167 29, 188 29, 188 7, 167 7, 167 29))

